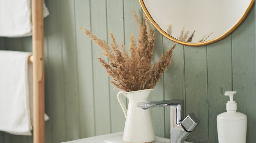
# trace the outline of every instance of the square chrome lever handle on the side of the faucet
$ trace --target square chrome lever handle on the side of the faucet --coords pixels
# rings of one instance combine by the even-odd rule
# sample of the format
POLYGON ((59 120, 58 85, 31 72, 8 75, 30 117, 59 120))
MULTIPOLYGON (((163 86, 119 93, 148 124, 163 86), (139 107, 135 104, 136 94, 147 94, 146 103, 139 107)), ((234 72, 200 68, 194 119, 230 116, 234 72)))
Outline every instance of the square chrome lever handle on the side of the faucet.
POLYGON ((200 120, 194 113, 189 113, 187 117, 181 122, 183 129, 190 133, 200 123, 200 120))

